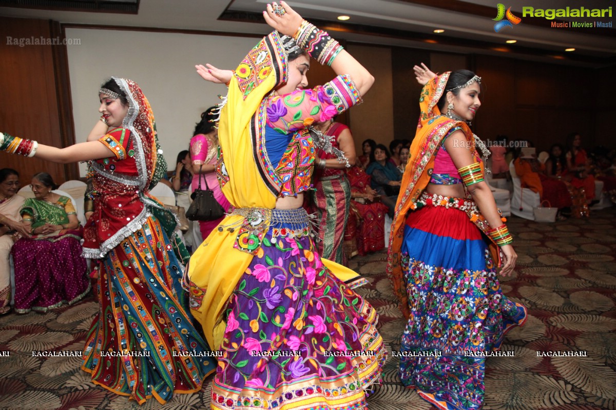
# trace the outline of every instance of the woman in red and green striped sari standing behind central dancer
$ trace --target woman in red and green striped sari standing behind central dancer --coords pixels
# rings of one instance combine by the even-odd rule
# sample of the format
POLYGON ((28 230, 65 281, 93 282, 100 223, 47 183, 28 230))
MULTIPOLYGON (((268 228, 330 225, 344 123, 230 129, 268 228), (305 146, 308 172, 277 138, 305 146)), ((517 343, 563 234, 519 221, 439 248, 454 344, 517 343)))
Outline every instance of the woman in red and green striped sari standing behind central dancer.
POLYGON ((317 250, 322 258, 330 259, 346 266, 347 255, 342 241, 349 216, 351 186, 345 168, 355 165, 355 143, 351 130, 333 119, 315 125, 324 135, 333 137, 332 146, 344 152, 346 161, 341 162, 335 154, 319 150, 318 166, 315 175, 313 202, 317 208, 318 231, 317 250))

